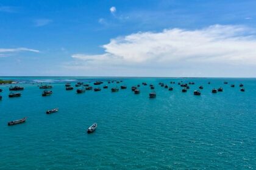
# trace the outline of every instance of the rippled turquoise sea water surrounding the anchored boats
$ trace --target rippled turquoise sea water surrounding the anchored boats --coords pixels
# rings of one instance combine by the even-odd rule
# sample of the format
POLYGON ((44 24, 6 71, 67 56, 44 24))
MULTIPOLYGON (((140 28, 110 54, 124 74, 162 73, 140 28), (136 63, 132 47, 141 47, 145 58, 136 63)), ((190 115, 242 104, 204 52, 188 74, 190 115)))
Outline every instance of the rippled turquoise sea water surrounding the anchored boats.
POLYGON ((0 169, 256 168, 254 78, 0 79, 18 80, 25 87, 22 97, 8 98, 7 85, 0 86, 4 89, 0 92, 0 169), (96 80, 123 83, 84 94, 65 90, 66 82, 74 86, 77 81, 96 80), (182 93, 178 81, 195 84, 182 93), (35 82, 51 82, 53 94, 41 97, 43 89, 35 82), (141 85, 141 93, 133 94, 130 87, 142 82, 148 86, 141 85), (174 90, 160 87, 159 82, 174 90), (151 83, 157 92, 154 99, 148 97, 151 83), (240 92, 240 83, 246 92, 240 92), (122 84, 127 89, 110 92, 110 87, 122 84), (194 96, 200 85, 204 86, 201 96, 194 96), (221 86, 224 92, 212 94, 213 87, 221 86), (55 107, 59 112, 45 114, 55 107), (8 121, 23 117, 26 123, 7 126, 8 121), (94 122, 98 129, 87 134, 94 122))

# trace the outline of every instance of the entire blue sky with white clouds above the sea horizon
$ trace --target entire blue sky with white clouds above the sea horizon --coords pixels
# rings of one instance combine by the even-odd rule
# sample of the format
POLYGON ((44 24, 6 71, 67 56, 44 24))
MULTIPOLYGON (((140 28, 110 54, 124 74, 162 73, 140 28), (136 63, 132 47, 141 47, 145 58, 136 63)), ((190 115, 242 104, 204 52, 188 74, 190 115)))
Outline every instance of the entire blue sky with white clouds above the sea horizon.
POLYGON ((0 77, 256 77, 254 0, 0 0, 0 77))

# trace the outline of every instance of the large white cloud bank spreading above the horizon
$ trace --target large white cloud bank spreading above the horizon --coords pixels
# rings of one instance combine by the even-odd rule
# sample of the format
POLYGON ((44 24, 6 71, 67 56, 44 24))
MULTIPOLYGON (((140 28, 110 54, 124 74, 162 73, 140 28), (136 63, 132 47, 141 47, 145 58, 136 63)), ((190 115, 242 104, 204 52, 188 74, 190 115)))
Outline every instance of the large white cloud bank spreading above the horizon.
MULTIPOLYGON (((256 66, 256 38, 252 30, 236 25, 212 25, 198 30, 166 29, 111 39, 99 55, 75 54, 69 67, 93 69, 147 69, 149 73, 177 72, 193 76, 233 72, 230 67, 256 66), (251 33, 251 35, 248 35, 251 33), (216 68, 220 69, 216 69, 216 68), (221 73, 221 72, 220 72, 221 73)), ((241 70, 240 70, 241 71, 241 70)), ((256 70, 255 70, 256 71, 256 70)), ((236 70, 239 72, 239 70, 236 70)), ((256 75, 255 75, 256 76, 256 75)))

